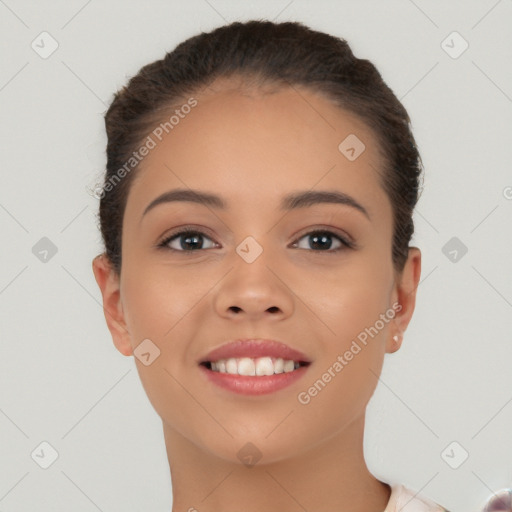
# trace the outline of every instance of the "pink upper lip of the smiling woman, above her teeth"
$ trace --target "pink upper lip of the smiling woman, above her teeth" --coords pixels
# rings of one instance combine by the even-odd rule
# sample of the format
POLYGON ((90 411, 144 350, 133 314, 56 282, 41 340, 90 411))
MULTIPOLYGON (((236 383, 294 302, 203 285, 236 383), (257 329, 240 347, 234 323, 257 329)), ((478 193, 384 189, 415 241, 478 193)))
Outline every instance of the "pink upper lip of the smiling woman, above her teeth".
POLYGON ((199 364, 232 357, 281 357, 285 360, 310 363, 310 359, 297 349, 276 341, 261 338, 247 338, 231 341, 211 350, 199 360, 199 364))

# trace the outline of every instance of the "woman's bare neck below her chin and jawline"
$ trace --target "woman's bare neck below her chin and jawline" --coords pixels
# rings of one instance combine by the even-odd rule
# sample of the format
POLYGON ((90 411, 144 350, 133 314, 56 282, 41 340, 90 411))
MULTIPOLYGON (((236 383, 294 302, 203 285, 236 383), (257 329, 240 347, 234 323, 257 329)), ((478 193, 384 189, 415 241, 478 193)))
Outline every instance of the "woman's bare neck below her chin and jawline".
POLYGON ((213 455, 164 424, 172 512, 382 512, 391 489, 368 471, 363 431, 364 416, 308 451, 246 466, 213 455))

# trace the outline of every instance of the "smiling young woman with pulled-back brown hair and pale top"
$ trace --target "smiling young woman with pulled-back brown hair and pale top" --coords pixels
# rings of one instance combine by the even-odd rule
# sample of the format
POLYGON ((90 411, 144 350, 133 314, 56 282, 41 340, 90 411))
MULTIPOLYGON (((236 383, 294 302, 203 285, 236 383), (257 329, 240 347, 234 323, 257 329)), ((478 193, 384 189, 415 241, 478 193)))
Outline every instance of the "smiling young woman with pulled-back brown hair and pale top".
POLYGON ((441 511, 363 454, 412 317, 421 160, 376 68, 301 23, 232 23, 106 113, 93 261, 162 419, 173 511, 441 511))

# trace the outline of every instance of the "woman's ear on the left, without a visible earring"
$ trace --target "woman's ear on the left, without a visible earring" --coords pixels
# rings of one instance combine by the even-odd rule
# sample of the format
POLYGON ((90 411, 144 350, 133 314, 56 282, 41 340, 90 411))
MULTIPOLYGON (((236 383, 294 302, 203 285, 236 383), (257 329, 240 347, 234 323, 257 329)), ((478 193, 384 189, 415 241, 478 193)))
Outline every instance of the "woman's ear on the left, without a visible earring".
POLYGON ((121 303, 119 276, 105 254, 92 260, 92 270, 103 296, 103 313, 114 345, 121 354, 131 356, 133 350, 121 303))

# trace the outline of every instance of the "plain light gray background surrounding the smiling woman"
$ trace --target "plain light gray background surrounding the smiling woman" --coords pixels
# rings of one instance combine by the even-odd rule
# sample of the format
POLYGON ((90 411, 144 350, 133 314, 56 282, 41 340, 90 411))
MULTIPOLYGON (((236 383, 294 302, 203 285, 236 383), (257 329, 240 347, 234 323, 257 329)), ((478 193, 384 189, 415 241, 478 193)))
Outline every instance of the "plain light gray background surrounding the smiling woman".
POLYGON ((512 486, 511 0, 0 0, 0 511, 170 510, 161 422, 91 269, 102 116, 142 65, 251 18, 346 38, 404 103, 423 157, 422 282, 368 408, 370 469, 452 512, 512 486), (43 31, 59 44, 46 59, 31 47, 43 31), (469 43, 458 58, 441 46, 453 31, 469 43), (46 263, 42 237, 58 249, 46 263), (452 237, 468 248, 456 262, 452 237), (43 441, 48 469, 31 456, 43 441), (458 469, 453 441, 452 464, 469 453, 458 469))

